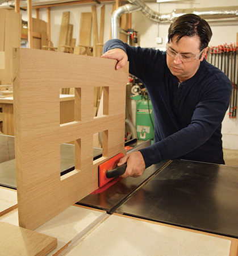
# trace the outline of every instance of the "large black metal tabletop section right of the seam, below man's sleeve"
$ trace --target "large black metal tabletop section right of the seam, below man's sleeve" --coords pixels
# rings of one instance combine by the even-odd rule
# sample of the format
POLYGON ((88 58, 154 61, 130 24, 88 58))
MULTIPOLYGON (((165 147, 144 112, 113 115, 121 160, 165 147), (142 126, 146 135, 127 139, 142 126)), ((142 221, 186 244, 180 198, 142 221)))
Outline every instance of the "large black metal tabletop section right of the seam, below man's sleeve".
POLYGON ((173 160, 118 209, 238 238, 238 167, 173 160))

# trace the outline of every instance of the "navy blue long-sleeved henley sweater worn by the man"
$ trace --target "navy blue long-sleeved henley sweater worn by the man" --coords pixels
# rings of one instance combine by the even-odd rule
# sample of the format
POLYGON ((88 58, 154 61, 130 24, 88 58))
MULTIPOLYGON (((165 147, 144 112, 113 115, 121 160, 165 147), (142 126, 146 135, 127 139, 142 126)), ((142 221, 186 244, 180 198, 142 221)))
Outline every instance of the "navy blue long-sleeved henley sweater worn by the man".
POLYGON ((232 85, 228 77, 203 60, 193 77, 181 82, 169 71, 166 52, 131 47, 109 40, 104 52, 123 49, 130 73, 146 86, 155 117, 155 143, 140 150, 145 166, 168 159, 216 163, 222 157, 222 121, 232 85))

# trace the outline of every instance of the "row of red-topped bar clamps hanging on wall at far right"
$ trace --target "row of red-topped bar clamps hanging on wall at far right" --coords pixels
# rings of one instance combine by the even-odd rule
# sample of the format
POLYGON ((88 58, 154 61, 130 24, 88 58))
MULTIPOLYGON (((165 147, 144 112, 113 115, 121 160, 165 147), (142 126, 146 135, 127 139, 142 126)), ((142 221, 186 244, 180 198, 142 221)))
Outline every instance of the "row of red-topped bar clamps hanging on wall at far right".
POLYGON ((229 102, 229 118, 236 118, 237 113, 237 83, 238 83, 238 44, 224 44, 211 47, 210 62, 222 70, 231 80, 232 94, 229 102))

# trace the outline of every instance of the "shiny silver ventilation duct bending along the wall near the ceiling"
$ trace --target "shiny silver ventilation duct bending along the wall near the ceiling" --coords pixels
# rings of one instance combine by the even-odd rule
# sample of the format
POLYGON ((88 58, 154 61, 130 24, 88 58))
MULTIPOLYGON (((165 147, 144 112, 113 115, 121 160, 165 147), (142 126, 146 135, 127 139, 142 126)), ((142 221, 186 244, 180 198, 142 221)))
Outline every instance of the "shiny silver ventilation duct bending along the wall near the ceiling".
POLYGON ((147 18, 155 22, 172 22, 178 16, 186 13, 193 13, 202 16, 204 19, 224 19, 238 18, 238 6, 224 8, 207 8, 207 9, 187 9, 173 10, 170 14, 159 14, 151 10, 142 0, 128 0, 131 5, 124 5, 114 11, 111 18, 112 38, 119 38, 119 18, 124 13, 132 13, 133 11, 141 11, 147 18))

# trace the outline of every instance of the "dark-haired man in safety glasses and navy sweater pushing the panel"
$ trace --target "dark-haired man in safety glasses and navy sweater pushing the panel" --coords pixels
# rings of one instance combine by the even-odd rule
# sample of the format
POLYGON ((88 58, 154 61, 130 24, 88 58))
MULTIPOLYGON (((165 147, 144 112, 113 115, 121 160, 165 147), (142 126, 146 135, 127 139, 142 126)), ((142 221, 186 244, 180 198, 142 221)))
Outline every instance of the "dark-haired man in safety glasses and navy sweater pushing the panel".
POLYGON ((109 40, 103 58, 116 69, 130 61, 130 73, 146 86, 155 117, 155 143, 124 156, 122 177, 138 177, 151 164, 186 159, 224 164, 221 123, 231 97, 228 77, 204 56, 211 28, 194 14, 179 16, 169 27, 166 52, 130 47, 109 40))

